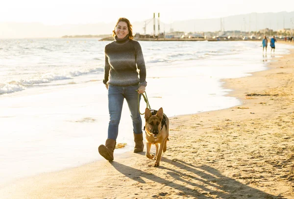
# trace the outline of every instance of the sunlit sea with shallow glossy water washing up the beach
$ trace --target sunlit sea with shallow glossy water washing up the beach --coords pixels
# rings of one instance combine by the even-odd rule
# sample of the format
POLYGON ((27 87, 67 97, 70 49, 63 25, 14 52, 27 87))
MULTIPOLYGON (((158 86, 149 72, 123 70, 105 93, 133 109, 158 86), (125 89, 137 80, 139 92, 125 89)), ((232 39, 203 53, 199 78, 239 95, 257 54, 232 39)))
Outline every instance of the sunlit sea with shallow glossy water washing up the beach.
MULTIPOLYGON (((0 186, 21 178, 101 160, 98 146, 108 128, 102 83, 104 47, 98 38, 0 39, 0 186)), ((152 109, 168 117, 240 105, 223 79, 267 70, 273 57, 293 46, 261 41, 140 41, 146 94, 152 109)), ((140 110, 146 103, 141 100, 140 110)), ((142 116, 142 120, 144 118, 142 116)), ((144 123, 144 122, 143 122, 144 123)), ((115 156, 134 147, 123 105, 115 156)))

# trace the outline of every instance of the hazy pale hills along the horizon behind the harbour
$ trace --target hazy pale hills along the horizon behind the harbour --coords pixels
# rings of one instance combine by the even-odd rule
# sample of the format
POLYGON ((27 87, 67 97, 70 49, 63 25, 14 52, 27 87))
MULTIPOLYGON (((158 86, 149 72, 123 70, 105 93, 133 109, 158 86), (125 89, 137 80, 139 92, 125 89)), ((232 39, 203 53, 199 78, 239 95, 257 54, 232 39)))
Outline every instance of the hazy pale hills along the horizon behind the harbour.
MULTIPOLYGON (((111 34, 115 22, 78 25, 44 25, 41 23, 0 23, 0 38, 40 38, 62 37, 64 35, 101 35, 111 34)), ((144 33, 144 22, 132 22, 133 32, 144 33)), ((156 19, 157 27, 157 19, 156 19)), ((228 16, 223 18, 224 30, 256 31, 270 28, 294 28, 294 12, 278 13, 250 13, 244 15, 228 16), (292 18, 292 22, 291 22, 292 18)), ((171 24, 160 23, 161 32, 175 31, 199 32, 221 30, 221 19, 195 19, 174 21, 171 24)), ((146 26, 146 33, 153 34, 153 24, 146 26)), ((157 29, 156 29, 157 34, 157 29)))

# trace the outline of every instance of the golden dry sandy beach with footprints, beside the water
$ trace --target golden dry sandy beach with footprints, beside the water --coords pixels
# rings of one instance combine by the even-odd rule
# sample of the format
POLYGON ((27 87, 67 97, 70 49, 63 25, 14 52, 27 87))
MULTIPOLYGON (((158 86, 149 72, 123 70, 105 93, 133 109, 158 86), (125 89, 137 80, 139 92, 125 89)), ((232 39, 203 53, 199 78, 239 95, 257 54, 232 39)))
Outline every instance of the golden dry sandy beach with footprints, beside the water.
POLYGON ((273 60, 267 71, 223 80, 242 105, 171 118, 160 167, 145 148, 18 180, 0 198, 294 199, 294 50, 273 60))

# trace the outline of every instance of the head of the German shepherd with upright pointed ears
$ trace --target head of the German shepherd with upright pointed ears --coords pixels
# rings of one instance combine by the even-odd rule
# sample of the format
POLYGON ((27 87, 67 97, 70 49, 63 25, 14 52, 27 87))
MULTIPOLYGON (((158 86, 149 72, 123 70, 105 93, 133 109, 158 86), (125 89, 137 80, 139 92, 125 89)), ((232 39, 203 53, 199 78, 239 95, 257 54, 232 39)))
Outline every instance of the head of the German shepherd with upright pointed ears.
POLYGON ((151 115, 151 111, 145 109, 145 128, 153 134, 154 137, 157 137, 161 129, 161 121, 163 118, 163 109, 160 108, 156 115, 151 115))

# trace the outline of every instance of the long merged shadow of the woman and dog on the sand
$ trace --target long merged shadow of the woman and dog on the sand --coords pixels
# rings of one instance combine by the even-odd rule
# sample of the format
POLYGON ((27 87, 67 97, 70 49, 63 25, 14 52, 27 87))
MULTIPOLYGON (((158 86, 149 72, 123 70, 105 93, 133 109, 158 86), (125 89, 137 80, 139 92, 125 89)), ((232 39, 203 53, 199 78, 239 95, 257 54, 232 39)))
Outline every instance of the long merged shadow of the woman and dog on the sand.
MULTIPOLYGON (((214 195, 220 198, 257 197, 268 199, 280 199, 282 197, 273 196, 249 187, 235 179, 222 175, 218 170, 208 165, 201 165, 198 167, 181 160, 170 160, 165 157, 162 157, 161 162, 170 164, 165 164, 167 167, 160 166, 156 168, 166 171, 167 177, 165 178, 157 176, 156 170, 148 170, 145 172, 118 162, 112 162, 111 165, 117 171, 132 180, 146 184, 144 180, 144 178, 146 178, 160 184, 165 184, 165 186, 178 190, 177 195, 182 196, 211 198, 212 195, 214 195), (176 181, 177 183, 175 183, 176 181), (178 181, 181 181, 181 183, 178 181)), ((162 193, 153 194, 157 194, 158 197, 160 197, 162 193)))

